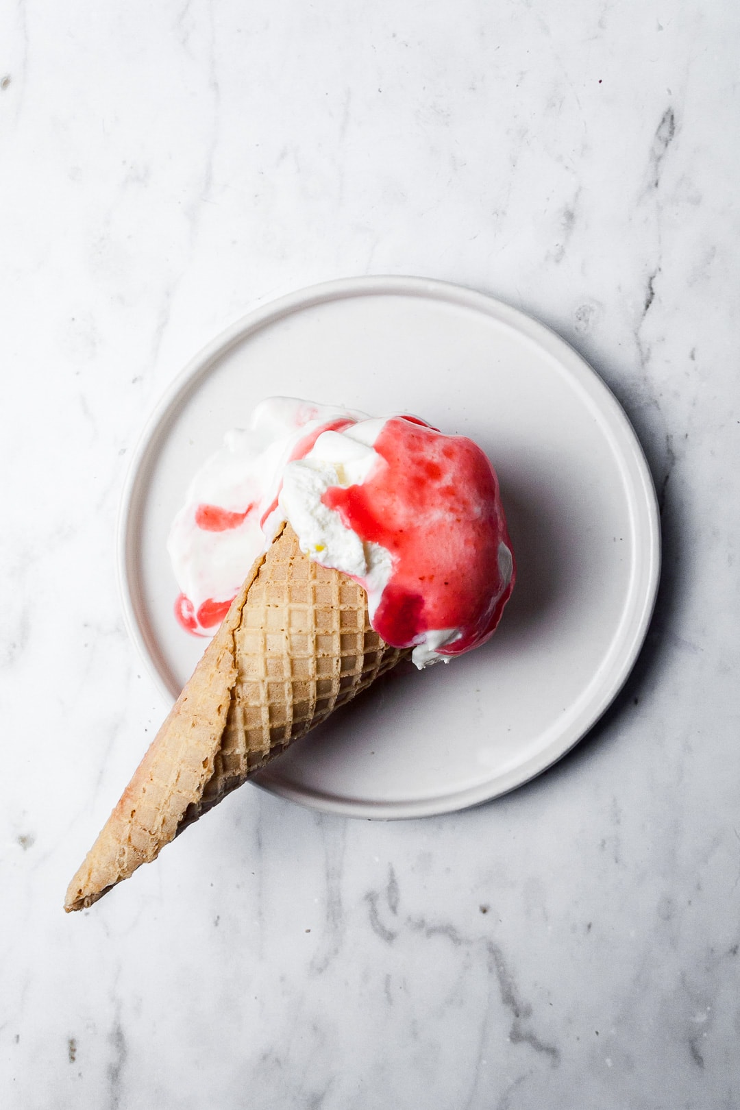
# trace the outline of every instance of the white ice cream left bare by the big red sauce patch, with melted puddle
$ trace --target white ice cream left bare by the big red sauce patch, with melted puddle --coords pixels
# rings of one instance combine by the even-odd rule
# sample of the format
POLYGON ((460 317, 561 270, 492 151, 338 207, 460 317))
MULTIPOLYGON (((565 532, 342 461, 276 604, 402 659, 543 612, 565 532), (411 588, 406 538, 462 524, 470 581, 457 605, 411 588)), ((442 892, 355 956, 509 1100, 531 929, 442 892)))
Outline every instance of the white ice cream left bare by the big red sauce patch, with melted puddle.
MULTIPOLYGON (((246 430, 226 433, 223 447, 193 478, 168 541, 175 578, 192 604, 191 630, 215 632, 217 624, 201 624, 199 613, 235 596, 283 521, 290 522, 301 549, 311 558, 362 583, 373 620, 392 575, 391 554, 378 544, 364 544, 322 497, 331 486, 346 488, 365 482, 379 461, 373 444, 385 422, 385 417, 367 418, 364 413, 328 405, 271 397, 257 405, 246 430), (290 461, 305 436, 341 418, 357 423, 341 432, 323 432, 305 457, 290 461), (209 515, 209 506, 245 515, 236 526, 213 527, 219 516, 209 515)), ((458 635, 457 628, 427 632, 414 647, 416 666, 438 659, 447 663, 448 657, 437 648, 458 635)))

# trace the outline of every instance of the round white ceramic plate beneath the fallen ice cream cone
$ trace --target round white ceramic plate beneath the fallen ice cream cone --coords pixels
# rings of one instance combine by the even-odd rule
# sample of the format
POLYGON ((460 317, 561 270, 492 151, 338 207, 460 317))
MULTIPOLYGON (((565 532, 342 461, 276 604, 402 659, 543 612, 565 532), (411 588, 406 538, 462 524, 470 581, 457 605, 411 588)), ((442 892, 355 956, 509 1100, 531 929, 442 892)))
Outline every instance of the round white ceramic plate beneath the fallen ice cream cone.
POLYGON ((251 313, 175 381, 123 497, 129 629, 171 698, 204 642, 173 617, 170 522, 224 432, 275 394, 418 413, 475 440, 499 475, 518 579, 485 647, 381 679, 260 785, 317 809, 414 817, 496 797, 549 767, 618 693, 658 586, 655 490, 611 393, 541 324, 440 282, 338 281, 251 313))

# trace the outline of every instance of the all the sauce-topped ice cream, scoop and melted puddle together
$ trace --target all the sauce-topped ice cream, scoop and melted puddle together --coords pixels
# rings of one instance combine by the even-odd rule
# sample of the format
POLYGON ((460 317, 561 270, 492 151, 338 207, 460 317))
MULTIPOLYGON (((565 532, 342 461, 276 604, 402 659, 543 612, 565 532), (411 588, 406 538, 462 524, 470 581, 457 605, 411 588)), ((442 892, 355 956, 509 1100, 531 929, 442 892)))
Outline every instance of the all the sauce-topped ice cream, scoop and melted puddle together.
POLYGON ((185 627, 220 622, 287 519, 311 558, 365 588, 373 627, 418 667, 491 635, 514 559, 488 458, 418 417, 363 416, 272 398, 229 433, 170 536, 185 627))

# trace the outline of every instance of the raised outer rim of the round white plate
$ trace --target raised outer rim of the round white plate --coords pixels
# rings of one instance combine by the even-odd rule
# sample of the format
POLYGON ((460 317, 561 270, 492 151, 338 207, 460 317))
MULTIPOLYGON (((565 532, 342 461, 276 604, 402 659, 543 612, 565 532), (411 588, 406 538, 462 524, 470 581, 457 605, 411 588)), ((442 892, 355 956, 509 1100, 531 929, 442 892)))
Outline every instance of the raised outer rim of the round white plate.
MULTIPOLYGON (((641 501, 641 508, 646 513, 647 524, 645 533, 637 537, 645 545, 645 552, 642 553, 642 576, 645 582, 640 604, 631 619, 631 635, 627 637, 626 643, 621 647, 619 666, 612 673, 611 680, 604 686, 600 696, 596 700, 588 700, 587 706, 590 708, 586 714, 588 717, 586 724, 580 722, 580 715, 577 715, 570 725, 567 725, 562 731, 557 733, 554 740, 539 749, 524 764, 517 764, 516 768, 509 769, 503 775, 497 775, 495 779, 487 779, 483 784, 455 789, 446 795, 435 795, 433 798, 373 801, 363 798, 338 797, 308 787, 298 789, 291 783, 274 778, 271 768, 265 769, 251 780, 261 789, 322 813, 388 820, 455 813, 503 797, 519 786, 531 781, 531 779, 554 766, 585 738, 618 696, 631 674, 645 643, 655 612, 660 582, 661 534, 655 483, 645 452, 627 413, 596 370, 567 340, 562 339, 561 335, 547 324, 541 323, 520 309, 515 309, 510 304, 499 301, 497 297, 489 296, 486 293, 480 293, 464 285, 430 278, 393 274, 366 275, 341 278, 316 285, 304 286, 275 300, 259 303, 201 347, 174 376, 150 411, 150 415, 144 422, 129 461, 116 518, 118 589, 126 632, 144 662, 148 673, 166 702, 172 703, 174 695, 156 665, 150 642, 141 627, 132 591, 132 582, 134 579, 132 569, 134 561, 134 528, 132 526, 132 517, 134 515, 133 508, 136 497, 141 494, 145 485, 142 475, 145 471, 146 456, 153 451, 158 435, 161 431, 165 430, 168 418, 173 417, 173 410, 176 403, 186 400, 189 392, 192 392, 199 382, 207 375, 211 364, 240 341, 246 340, 251 333, 257 332, 281 317, 288 316, 295 312, 312 309, 330 301, 367 295, 422 297, 473 309, 513 327, 519 334, 534 341, 537 346, 544 349, 566 370, 569 376, 577 380, 581 390, 585 390, 588 394, 589 400, 607 417, 609 430, 612 433, 616 431, 617 443, 612 446, 622 448, 616 453, 620 468, 631 463, 636 476, 640 478, 638 486, 636 483, 628 483, 628 475, 624 475, 630 513, 635 509, 635 498, 637 496, 641 501), (624 451, 625 447, 629 448, 627 453, 624 451)), ((636 573, 636 563, 637 559, 632 555, 632 575, 636 573)), ((617 632, 615 632, 614 639, 617 637, 617 632)))

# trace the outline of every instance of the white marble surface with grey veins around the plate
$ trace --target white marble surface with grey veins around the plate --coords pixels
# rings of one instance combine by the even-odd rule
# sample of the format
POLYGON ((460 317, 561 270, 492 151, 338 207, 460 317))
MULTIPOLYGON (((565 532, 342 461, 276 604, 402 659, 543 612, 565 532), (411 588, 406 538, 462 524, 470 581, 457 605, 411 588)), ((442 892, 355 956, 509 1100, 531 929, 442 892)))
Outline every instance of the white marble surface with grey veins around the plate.
POLYGON ((12 1110, 740 1104, 738 8, 0 9, 0 1089, 12 1110), (128 456, 257 302, 410 273, 523 307, 643 443, 665 571, 614 708, 493 804, 252 787, 83 915, 165 705, 128 456))

